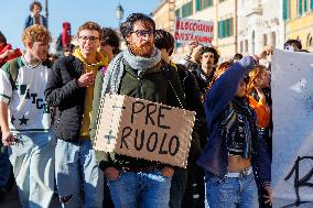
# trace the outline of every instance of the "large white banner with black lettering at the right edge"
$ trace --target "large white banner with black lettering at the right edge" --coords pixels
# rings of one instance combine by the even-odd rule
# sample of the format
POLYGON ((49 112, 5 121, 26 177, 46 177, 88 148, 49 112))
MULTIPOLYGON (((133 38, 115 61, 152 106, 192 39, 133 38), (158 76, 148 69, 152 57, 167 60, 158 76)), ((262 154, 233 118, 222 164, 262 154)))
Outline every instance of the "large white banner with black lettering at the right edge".
POLYGON ((313 54, 272 58, 273 207, 313 207, 313 54))

